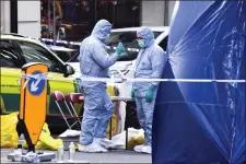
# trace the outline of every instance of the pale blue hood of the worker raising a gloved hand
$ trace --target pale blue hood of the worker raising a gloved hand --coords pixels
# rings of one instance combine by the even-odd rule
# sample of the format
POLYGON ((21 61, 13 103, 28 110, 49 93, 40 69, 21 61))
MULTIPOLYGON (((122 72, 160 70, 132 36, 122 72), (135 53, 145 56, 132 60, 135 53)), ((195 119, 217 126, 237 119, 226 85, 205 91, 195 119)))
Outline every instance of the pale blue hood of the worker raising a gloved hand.
POLYGON ((102 42, 105 42, 110 34, 112 24, 107 20, 99 20, 92 31, 92 35, 102 42))

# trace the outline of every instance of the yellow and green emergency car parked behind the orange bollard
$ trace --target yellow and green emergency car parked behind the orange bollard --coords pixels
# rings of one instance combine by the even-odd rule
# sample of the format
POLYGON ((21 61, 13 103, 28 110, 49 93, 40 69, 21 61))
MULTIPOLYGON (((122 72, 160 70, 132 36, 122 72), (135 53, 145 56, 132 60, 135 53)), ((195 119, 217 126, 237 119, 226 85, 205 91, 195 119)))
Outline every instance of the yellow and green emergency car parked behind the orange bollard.
MULTIPOLYGON (((61 133, 67 130, 68 127, 50 95, 54 91, 61 91, 65 94, 80 92, 77 79, 71 77, 74 73, 73 68, 70 65, 65 63, 40 42, 25 38, 16 34, 1 34, 0 57, 0 114, 4 115, 19 112, 22 66, 28 62, 42 62, 48 66, 48 77, 52 78, 48 80, 46 122, 52 133, 61 133)), ((61 107, 65 109, 63 113, 66 116, 69 116, 68 110, 66 110, 66 107, 62 106, 62 104, 61 107)), ((82 105, 75 105, 75 110, 79 115, 82 115, 82 105)))

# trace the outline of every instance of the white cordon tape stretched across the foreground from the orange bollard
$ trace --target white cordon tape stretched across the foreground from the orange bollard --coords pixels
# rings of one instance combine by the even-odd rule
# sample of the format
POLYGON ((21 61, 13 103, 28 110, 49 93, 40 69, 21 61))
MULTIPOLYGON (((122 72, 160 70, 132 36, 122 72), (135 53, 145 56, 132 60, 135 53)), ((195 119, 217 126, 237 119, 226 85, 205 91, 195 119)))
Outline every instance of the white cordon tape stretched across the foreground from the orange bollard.
MULTIPOLYGON (((36 80, 60 80, 65 81, 65 78, 48 77, 48 73, 39 74, 22 74, 22 79, 26 79, 24 87, 28 83, 30 79, 36 80)), ((80 78, 68 78, 68 80, 81 80, 81 81, 92 81, 92 82, 216 82, 216 83, 245 83, 246 80, 213 80, 213 79, 116 79, 116 78, 93 78, 93 77, 80 77, 80 78)))

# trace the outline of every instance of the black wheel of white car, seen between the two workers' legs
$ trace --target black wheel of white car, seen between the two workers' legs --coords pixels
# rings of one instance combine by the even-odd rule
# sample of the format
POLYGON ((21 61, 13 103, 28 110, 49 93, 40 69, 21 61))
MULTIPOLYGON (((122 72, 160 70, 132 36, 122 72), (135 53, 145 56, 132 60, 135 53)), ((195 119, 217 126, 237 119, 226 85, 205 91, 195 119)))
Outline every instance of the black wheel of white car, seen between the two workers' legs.
POLYGON ((136 112, 136 103, 127 102, 125 130, 127 128, 141 129, 136 112))

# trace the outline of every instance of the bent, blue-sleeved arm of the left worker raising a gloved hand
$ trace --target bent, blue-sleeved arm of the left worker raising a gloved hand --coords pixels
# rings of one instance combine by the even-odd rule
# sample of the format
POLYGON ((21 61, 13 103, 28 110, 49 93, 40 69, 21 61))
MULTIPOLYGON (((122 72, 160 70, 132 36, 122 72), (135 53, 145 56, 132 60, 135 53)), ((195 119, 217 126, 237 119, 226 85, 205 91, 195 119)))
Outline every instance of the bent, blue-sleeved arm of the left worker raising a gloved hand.
POLYGON ((92 54, 96 63, 104 69, 113 66, 118 59, 118 55, 116 52, 109 56, 103 45, 95 44, 92 54))

